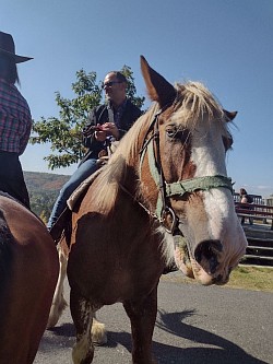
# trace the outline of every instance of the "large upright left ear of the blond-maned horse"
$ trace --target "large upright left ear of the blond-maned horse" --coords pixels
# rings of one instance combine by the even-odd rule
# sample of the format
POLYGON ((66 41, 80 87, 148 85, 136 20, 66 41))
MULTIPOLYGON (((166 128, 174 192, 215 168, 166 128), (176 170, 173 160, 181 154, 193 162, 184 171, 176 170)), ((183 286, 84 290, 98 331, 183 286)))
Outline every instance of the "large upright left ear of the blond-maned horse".
POLYGON ((141 58, 141 71, 146 84, 149 97, 156 101, 161 108, 170 104, 176 98, 176 89, 159 73, 153 70, 143 56, 141 58))

